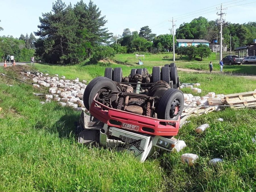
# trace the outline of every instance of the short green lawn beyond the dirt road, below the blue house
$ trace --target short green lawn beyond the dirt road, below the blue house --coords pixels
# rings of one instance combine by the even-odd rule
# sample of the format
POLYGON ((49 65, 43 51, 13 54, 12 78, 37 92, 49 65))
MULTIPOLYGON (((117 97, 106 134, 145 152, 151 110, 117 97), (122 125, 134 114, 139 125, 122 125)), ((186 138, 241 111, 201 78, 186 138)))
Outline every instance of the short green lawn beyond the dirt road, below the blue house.
MULTIPOLYGON (((144 65, 146 66, 163 66, 164 64, 172 63, 172 53, 166 54, 148 54, 145 55, 145 60, 142 59, 144 65), (169 57, 169 58, 165 58, 169 57)), ((211 57, 204 58, 203 61, 192 60, 189 61, 187 57, 184 57, 183 60, 180 60, 178 56, 176 56, 176 65, 180 68, 188 68, 188 69, 198 69, 198 70, 209 70, 209 63, 212 61, 213 63, 213 71, 220 71, 219 61, 216 60, 215 53, 212 53, 211 57)), ((137 66, 136 57, 134 54, 118 54, 115 56, 115 61, 121 61, 124 63, 129 63, 131 65, 137 66)), ((239 74, 247 74, 247 75, 256 75, 256 65, 225 65, 223 68, 223 72, 227 73, 239 73, 239 74)))

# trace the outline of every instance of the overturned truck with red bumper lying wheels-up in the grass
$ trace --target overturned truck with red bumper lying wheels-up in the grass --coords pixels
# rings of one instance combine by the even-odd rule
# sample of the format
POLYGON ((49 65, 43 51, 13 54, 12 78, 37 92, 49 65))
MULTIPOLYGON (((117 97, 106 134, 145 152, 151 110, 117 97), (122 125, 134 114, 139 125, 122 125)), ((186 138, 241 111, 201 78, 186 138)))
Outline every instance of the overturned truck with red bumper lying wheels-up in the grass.
POLYGON ((183 93, 174 63, 147 69, 106 68, 84 91, 84 106, 78 128, 80 143, 129 150, 140 160, 155 151, 172 151, 177 143, 183 93))

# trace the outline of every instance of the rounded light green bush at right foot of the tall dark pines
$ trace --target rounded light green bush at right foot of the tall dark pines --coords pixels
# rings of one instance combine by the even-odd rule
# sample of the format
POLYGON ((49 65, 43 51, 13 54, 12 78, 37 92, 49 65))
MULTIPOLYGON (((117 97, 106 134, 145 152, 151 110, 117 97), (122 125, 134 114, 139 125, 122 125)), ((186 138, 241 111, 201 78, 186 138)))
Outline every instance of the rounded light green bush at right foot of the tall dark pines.
POLYGON ((98 46, 94 50, 93 56, 90 58, 90 63, 97 63, 100 60, 109 61, 115 57, 115 50, 110 46, 98 46))

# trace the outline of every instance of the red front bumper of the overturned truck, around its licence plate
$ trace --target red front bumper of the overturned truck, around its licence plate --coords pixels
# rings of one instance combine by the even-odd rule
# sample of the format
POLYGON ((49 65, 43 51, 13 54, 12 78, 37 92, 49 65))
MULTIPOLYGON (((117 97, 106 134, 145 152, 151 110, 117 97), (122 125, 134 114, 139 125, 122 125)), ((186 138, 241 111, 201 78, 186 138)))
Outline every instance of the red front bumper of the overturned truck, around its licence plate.
POLYGON ((152 117, 109 108, 96 101, 95 98, 90 106, 90 113, 98 120, 106 123, 109 126, 125 129, 122 127, 122 125, 123 123, 126 123, 129 125, 135 125, 135 127, 137 127, 137 132, 149 135, 175 136, 178 134, 180 116, 176 121, 155 119, 152 117))

